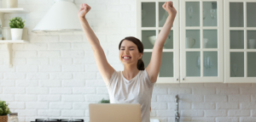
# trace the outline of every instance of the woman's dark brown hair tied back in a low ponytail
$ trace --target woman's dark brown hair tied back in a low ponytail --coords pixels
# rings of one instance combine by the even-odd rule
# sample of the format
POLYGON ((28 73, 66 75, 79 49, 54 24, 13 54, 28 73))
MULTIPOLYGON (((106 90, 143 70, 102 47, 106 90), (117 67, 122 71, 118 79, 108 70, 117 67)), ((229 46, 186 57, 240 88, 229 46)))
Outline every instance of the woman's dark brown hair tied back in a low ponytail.
MULTIPOLYGON (((121 40, 121 42, 119 43, 119 50, 120 50, 122 42, 124 42, 125 40, 135 43, 137 45, 139 53, 143 53, 143 51, 144 51, 143 43, 139 39, 137 39, 136 37, 133 37, 133 36, 127 36, 123 40, 121 40)), ((140 58, 139 60, 137 60, 137 69, 139 69, 139 70, 145 69, 143 58, 140 58)))

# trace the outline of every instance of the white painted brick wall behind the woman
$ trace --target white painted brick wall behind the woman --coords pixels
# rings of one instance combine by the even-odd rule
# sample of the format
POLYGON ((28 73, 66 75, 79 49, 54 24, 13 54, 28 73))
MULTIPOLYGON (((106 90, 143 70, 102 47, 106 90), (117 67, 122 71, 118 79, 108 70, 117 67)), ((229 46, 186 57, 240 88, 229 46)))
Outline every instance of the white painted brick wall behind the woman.
MULTIPOLYGON (((19 119, 89 119, 89 103, 108 99, 108 89, 96 69, 90 44, 83 33, 34 34, 54 0, 19 0, 29 14, 5 14, 26 19, 28 44, 13 44, 14 67, 9 68, 6 47, 0 44, 0 98, 19 119)), ((118 44, 136 36, 136 0, 74 0, 89 3, 90 26, 99 38, 108 62, 123 69, 118 44)), ((181 121, 256 121, 256 84, 157 84, 152 96, 152 118, 174 121, 174 98, 180 97, 181 121)))

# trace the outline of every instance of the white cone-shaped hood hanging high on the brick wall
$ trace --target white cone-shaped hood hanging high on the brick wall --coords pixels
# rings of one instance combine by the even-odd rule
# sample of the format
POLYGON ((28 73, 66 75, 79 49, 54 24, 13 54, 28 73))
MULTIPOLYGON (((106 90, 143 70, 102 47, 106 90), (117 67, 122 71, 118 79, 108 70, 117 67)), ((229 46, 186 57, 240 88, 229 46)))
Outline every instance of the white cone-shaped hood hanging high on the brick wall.
POLYGON ((32 32, 82 31, 78 12, 79 8, 73 0, 55 0, 53 6, 32 32))

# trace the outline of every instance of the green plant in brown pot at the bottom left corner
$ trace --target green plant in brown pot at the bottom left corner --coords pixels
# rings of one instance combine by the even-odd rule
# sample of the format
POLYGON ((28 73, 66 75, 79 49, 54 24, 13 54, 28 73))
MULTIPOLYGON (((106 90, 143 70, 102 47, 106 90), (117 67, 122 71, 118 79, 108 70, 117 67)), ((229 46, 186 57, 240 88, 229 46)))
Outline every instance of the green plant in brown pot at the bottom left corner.
POLYGON ((8 117, 7 114, 10 114, 8 103, 5 103, 5 101, 0 101, 0 122, 7 122, 8 117))

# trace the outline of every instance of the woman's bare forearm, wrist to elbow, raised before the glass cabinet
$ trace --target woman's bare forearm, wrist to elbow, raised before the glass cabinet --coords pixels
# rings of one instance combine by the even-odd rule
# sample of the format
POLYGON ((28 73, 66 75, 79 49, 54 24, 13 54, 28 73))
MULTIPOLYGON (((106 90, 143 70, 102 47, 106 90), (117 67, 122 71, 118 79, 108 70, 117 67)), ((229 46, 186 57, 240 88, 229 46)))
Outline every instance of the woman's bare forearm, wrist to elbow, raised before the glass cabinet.
POLYGON ((163 28, 161 29, 160 34, 157 36, 154 46, 164 47, 166 38, 169 35, 169 32, 171 31, 174 19, 175 19, 175 17, 172 17, 170 15, 167 17, 166 23, 163 26, 163 28))

